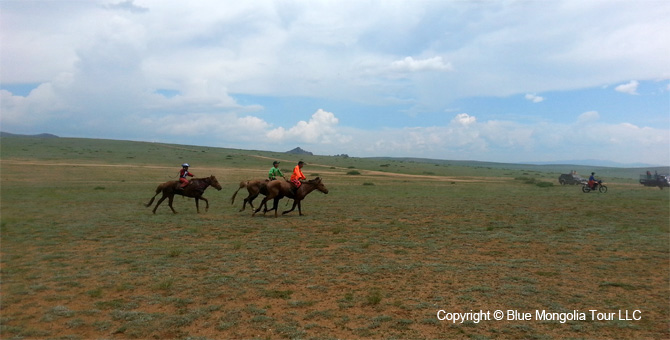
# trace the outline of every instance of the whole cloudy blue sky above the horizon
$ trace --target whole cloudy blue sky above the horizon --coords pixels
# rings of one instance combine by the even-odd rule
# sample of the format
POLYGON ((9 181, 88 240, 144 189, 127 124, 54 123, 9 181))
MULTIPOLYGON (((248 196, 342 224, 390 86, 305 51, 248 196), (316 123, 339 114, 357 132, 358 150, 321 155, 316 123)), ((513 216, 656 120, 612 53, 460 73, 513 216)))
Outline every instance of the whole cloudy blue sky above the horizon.
POLYGON ((670 1, 0 1, 0 130, 670 165, 670 1))

